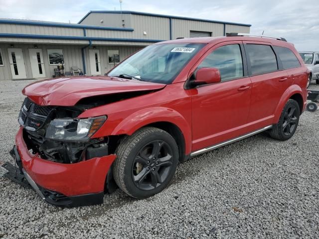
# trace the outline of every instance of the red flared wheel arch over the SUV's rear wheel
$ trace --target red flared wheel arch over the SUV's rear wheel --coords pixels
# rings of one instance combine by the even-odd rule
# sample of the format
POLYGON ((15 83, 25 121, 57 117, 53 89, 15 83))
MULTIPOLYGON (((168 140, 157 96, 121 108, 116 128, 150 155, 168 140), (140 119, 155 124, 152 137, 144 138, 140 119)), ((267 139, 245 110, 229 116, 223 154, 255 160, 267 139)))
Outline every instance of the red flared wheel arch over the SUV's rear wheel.
POLYGON ((287 101, 295 94, 300 94, 303 97, 304 102, 304 108, 301 109, 303 111, 305 109, 305 103, 307 101, 307 90, 302 90, 302 88, 299 85, 291 85, 285 93, 282 95, 279 104, 275 111, 275 117, 274 117, 274 123, 277 123, 279 121, 279 118, 281 116, 281 113, 287 103, 287 101))

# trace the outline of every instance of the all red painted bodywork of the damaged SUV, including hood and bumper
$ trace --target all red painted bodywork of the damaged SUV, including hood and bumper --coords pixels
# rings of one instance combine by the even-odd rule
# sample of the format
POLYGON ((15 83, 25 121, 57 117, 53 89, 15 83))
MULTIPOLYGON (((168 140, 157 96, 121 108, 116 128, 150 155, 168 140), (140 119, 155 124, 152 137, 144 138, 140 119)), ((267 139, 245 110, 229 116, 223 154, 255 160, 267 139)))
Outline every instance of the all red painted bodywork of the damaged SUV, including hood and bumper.
MULTIPOLYGON (((183 133, 186 155, 277 123, 283 107, 294 94, 302 96, 302 111, 305 110, 309 73, 291 43, 257 37, 187 38, 170 42, 207 43, 170 85, 110 77, 76 77, 34 83, 27 86, 23 94, 40 105, 72 106, 88 96, 158 90, 87 110, 79 118, 107 115, 104 125, 93 135, 95 138, 131 135, 150 123, 170 122, 183 133), (299 59, 301 67, 185 89, 185 81, 211 51, 226 44, 248 42, 288 47, 299 59)), ((207 71, 207 74, 211 73, 207 71)), ((23 166, 33 180, 67 196, 103 191, 106 173, 115 159, 115 155, 109 155, 77 164, 42 160, 28 153, 21 129, 16 144, 23 166)))

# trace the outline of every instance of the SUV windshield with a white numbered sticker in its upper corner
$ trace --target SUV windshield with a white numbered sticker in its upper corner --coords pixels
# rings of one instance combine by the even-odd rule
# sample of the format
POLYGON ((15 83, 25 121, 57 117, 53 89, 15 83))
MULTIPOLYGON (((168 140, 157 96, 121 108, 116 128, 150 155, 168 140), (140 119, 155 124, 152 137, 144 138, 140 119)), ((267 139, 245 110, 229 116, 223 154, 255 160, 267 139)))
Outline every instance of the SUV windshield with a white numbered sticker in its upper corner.
POLYGON ((201 43, 151 45, 126 59, 111 70, 108 76, 170 84, 203 46, 201 43))

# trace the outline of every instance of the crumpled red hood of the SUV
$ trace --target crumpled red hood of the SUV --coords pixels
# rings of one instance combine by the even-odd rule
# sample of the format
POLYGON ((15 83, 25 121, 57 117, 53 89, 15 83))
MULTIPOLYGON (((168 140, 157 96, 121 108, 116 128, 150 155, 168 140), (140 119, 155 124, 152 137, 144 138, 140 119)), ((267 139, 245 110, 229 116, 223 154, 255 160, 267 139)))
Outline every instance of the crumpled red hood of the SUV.
POLYGON ((165 84, 116 77, 70 77, 34 82, 22 94, 42 106, 74 106, 79 100, 123 92, 152 91, 165 84))

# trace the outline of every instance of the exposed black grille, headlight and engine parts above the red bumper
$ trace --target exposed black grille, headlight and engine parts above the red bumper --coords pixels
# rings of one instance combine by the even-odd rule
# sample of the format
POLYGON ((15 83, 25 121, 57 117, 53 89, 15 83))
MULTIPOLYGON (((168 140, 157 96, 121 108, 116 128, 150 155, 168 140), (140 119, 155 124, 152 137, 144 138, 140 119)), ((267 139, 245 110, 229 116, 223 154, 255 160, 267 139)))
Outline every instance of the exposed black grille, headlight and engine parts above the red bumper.
POLYGON ((24 127, 23 138, 29 151, 59 163, 77 163, 108 155, 109 137, 90 139, 106 116, 77 119, 83 111, 104 103, 94 102, 74 107, 39 106, 25 98, 18 121, 24 127))

